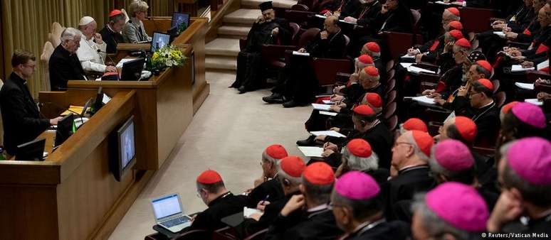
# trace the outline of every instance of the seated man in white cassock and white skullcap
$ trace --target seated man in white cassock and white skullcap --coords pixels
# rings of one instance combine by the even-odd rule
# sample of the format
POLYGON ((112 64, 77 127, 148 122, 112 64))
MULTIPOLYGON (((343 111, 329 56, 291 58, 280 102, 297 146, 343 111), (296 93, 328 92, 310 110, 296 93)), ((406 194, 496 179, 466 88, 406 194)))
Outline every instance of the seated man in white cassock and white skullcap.
POLYGON ((105 65, 105 49, 107 44, 103 42, 100 33, 96 33, 98 23, 90 16, 80 18, 78 29, 83 33, 80 38, 80 48, 77 50, 78 60, 85 71, 91 72, 116 72, 114 66, 105 65))

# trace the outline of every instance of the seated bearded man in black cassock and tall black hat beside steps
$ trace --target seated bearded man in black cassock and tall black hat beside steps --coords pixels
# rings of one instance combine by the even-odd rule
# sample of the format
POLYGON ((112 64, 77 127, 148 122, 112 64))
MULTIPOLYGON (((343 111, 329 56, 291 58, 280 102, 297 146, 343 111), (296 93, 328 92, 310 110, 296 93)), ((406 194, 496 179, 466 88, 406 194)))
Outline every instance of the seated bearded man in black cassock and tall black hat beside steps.
POLYGON ((245 93, 262 86, 266 77, 262 75, 261 46, 263 44, 289 45, 292 31, 288 21, 276 18, 272 2, 258 5, 262 15, 258 16, 247 35, 246 46, 237 55, 236 81, 231 84, 245 93))

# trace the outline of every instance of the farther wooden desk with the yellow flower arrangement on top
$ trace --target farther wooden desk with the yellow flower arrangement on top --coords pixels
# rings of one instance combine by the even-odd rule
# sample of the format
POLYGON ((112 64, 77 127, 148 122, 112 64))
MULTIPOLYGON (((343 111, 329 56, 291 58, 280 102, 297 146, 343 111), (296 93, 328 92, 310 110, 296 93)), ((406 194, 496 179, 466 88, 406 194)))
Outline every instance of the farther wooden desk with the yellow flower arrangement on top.
MULTIPOLYGON (((187 57, 191 46, 182 45, 187 57)), ((69 81, 69 89, 93 89, 103 87, 109 96, 134 89, 137 101, 136 134, 147 139, 147 147, 137 148, 136 168, 157 170, 167 159, 182 133, 193 118, 191 92, 191 60, 184 66, 167 68, 149 81, 69 81)), ((41 102, 48 102, 43 101, 41 102)))

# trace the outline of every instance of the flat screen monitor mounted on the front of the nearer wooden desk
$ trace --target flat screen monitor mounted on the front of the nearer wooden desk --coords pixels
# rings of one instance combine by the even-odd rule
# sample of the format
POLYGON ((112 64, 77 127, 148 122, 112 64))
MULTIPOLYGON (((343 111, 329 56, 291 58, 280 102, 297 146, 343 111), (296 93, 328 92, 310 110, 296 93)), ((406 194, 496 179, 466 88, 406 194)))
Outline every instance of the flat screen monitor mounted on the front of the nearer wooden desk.
POLYGON ((120 181, 125 173, 132 169, 136 163, 136 143, 134 116, 125 121, 110 141, 111 158, 110 165, 115 180, 120 181))

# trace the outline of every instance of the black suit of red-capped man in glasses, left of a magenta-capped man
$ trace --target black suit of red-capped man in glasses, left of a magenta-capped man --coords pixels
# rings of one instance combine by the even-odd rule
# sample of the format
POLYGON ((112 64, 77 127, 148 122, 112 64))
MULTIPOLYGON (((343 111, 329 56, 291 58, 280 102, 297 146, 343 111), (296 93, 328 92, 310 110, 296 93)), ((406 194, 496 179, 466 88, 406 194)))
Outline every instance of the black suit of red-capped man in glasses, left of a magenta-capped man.
POLYGON ((418 192, 426 192, 436 186, 434 178, 429 175, 429 165, 416 165, 398 171, 398 175, 390 179, 382 187, 383 195, 386 197, 387 219, 397 219, 403 214, 397 213, 400 207, 397 204, 413 200, 418 192))

